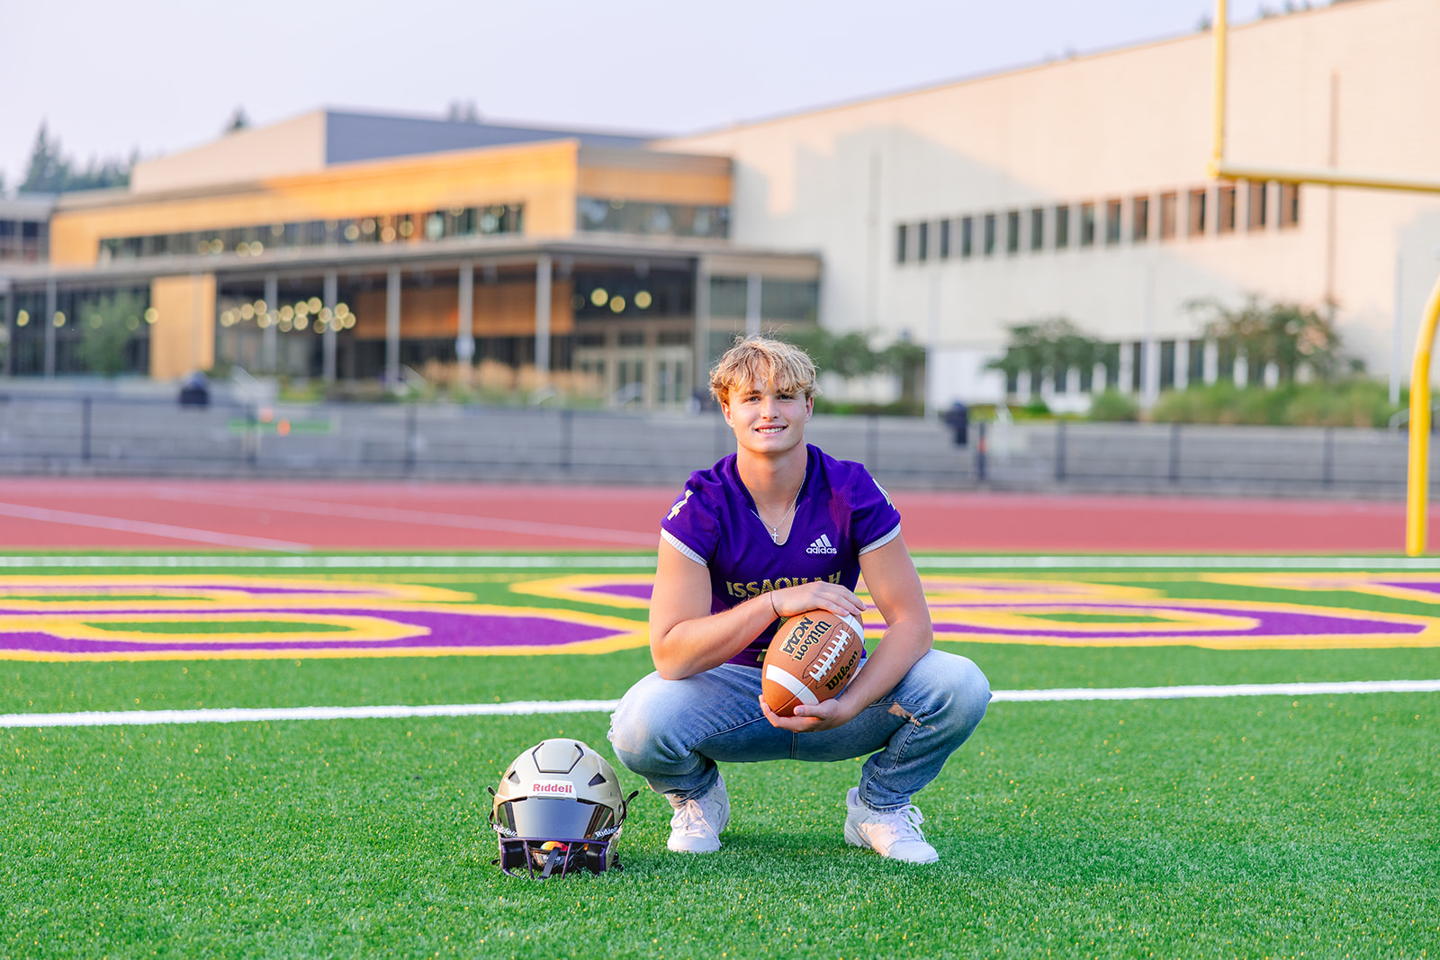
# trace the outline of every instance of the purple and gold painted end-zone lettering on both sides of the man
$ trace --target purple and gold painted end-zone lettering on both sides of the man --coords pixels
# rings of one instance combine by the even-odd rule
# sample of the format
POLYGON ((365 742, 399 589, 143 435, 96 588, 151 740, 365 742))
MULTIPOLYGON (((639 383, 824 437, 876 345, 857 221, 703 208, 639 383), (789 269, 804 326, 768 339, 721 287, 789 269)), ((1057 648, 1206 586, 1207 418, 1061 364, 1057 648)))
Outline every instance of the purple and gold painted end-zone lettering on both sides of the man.
MULTIPOLYGON (((1083 580, 923 577, 937 640, 1047 646, 1440 646, 1440 619, 1305 603, 1308 592, 1440 603, 1417 574, 1200 574, 1289 602, 1171 599, 1083 580)), ((605 653, 642 648, 648 574, 534 577, 516 603, 436 586, 288 576, 0 577, 0 659, 210 659, 605 653), (540 603, 540 606, 537 606, 540 603)), ((863 587, 861 587, 863 593, 863 587)), ((863 593, 864 596, 864 593, 863 593)), ((884 622, 871 609, 867 635, 884 622)))

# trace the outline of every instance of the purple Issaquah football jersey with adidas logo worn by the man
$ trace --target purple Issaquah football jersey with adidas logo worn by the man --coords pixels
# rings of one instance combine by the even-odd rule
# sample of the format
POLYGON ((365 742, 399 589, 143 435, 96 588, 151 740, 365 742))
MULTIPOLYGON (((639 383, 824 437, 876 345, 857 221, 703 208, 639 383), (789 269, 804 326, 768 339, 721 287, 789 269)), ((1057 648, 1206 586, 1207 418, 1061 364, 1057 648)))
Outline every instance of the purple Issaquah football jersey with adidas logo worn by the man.
MULTIPOLYGON (((900 534, 900 511, 861 463, 837 461, 818 446, 806 450, 805 481, 783 544, 770 538, 756 514, 733 453, 691 474, 660 521, 665 543, 710 570, 711 613, 812 580, 854 590, 860 554, 900 534)), ((768 626, 730 662, 759 666, 778 625, 768 626)))

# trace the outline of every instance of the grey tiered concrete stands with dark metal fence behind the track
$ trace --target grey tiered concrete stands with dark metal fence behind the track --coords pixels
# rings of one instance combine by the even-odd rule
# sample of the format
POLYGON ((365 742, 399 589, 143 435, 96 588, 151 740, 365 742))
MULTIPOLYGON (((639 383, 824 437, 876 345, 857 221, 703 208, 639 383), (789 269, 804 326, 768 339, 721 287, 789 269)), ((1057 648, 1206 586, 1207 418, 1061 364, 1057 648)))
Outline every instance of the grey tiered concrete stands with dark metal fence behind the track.
MULTIPOLYGON (((975 426, 960 448, 935 420, 816 416, 806 436, 896 488, 1385 498, 1405 486, 1405 436, 1387 430, 1043 422, 975 426)), ((12 475, 672 485, 733 449, 717 413, 0 394, 12 475)))

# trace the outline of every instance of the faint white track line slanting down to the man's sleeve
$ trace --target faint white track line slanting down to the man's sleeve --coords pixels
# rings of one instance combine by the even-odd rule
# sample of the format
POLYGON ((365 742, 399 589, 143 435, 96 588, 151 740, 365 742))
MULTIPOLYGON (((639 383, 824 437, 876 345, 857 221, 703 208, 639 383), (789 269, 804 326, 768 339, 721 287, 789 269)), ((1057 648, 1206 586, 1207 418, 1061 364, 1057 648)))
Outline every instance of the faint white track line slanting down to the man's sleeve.
POLYGON ((497 520, 472 514, 442 514, 432 510, 409 510, 405 507, 367 507, 363 504, 333 504, 323 499, 298 499, 294 497, 261 497, 256 494, 203 494, 199 491, 160 488, 154 492, 160 499, 183 499, 216 507, 258 507, 268 511, 288 511, 307 517, 348 517, 351 520, 383 520, 399 524, 420 524, 461 530, 488 530, 492 533, 526 534, 528 537, 560 537, 566 540, 599 540, 605 543, 654 547, 660 543, 660 528, 642 534, 634 530, 612 530, 608 527, 577 527, 572 524, 543 524, 528 520, 497 520))

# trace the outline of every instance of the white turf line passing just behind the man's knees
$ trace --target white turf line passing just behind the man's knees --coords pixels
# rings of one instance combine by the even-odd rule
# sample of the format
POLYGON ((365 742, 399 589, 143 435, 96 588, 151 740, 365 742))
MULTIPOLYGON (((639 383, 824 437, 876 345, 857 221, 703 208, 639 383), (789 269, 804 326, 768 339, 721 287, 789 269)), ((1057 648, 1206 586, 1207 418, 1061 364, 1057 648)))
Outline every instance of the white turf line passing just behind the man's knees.
MULTIPOLYGON (((1329 684, 1233 684, 1217 687, 1120 687, 1110 689, 996 689, 992 702, 1073 699, 1187 699, 1197 697, 1315 697, 1335 694, 1436 694, 1440 679, 1369 679, 1329 684)), ((618 699, 523 699, 508 704, 426 707, 275 707, 248 710, 120 710, 78 714, 0 714, 3 727, 138 727, 150 724, 246 724, 279 720, 402 720, 406 717, 521 717, 611 712, 618 699)))

